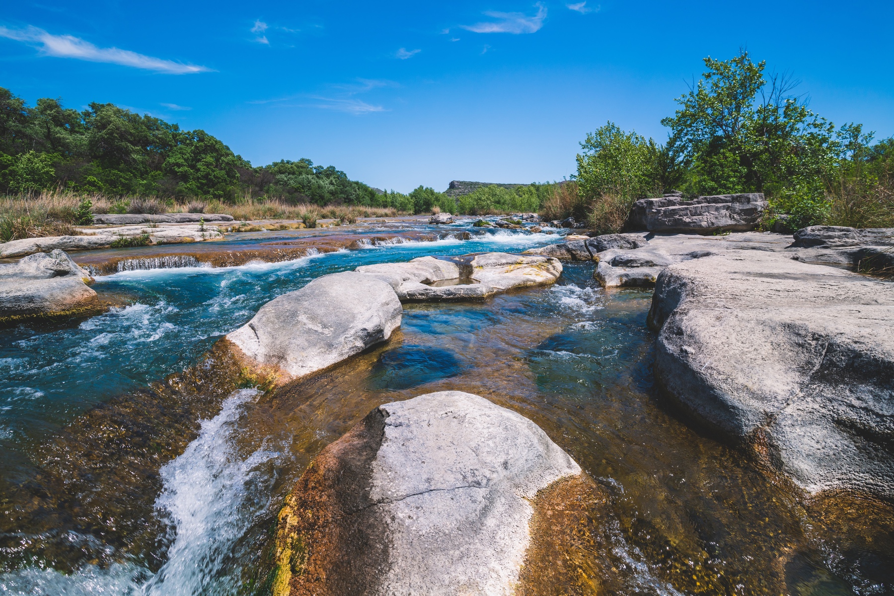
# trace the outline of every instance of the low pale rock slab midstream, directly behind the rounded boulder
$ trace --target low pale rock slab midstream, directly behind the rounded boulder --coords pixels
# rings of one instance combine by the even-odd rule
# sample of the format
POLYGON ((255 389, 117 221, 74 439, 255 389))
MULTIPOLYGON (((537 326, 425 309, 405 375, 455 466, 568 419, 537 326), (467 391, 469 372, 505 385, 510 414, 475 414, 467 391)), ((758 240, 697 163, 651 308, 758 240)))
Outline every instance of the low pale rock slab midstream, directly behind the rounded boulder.
POLYGON ((561 275, 561 263, 548 256, 477 253, 422 256, 409 263, 363 265, 355 271, 386 281, 404 302, 468 300, 552 283, 561 275))

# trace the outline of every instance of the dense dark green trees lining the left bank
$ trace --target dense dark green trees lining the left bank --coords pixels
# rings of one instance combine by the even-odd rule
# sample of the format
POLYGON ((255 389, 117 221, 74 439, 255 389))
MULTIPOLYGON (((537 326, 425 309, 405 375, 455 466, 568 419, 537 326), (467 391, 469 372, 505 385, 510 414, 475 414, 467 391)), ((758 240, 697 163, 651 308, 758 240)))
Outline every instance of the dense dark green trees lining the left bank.
POLYGON ((113 104, 79 112, 58 99, 27 105, 0 88, 0 192, 55 189, 107 196, 275 197, 317 205, 370 205, 375 190, 308 159, 253 167, 205 130, 113 104))

